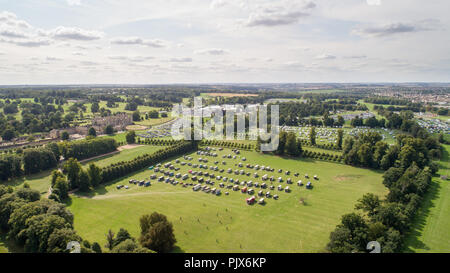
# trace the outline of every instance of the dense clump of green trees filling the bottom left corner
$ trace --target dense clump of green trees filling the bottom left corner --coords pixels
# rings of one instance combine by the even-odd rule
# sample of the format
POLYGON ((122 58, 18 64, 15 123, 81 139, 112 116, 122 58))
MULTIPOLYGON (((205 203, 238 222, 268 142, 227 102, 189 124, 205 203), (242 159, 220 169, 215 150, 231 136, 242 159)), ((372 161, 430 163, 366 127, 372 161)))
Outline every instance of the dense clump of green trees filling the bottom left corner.
POLYGON ((93 252, 74 230, 73 214, 65 205, 41 199, 26 184, 16 190, 0 185, 0 227, 25 252, 67 253, 71 241, 81 244, 81 252, 93 252))

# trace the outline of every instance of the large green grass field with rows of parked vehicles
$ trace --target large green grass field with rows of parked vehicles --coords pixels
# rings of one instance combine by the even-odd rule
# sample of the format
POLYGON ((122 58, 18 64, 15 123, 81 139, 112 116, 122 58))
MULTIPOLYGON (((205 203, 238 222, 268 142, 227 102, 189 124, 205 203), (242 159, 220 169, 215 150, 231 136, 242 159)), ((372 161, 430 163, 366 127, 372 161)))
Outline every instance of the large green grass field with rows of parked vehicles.
MULTIPOLYGON (((219 162, 224 160, 220 156, 223 153, 231 152, 219 152, 219 162)), ((247 162, 252 164, 290 170, 292 174, 289 177, 294 180, 290 185, 292 192, 275 190, 272 194, 278 194, 279 200, 269 198, 264 206, 249 206, 245 203, 249 195, 228 190, 230 195, 226 196, 223 193, 227 189, 222 189, 221 196, 214 196, 156 180, 149 188, 131 185, 128 190, 116 189, 119 184, 128 185, 131 178, 146 179, 153 173, 143 170, 104 185, 89 196, 73 195, 68 207, 75 215, 75 229, 90 242, 98 241, 104 245, 109 229, 117 232, 119 228, 126 228, 138 237, 139 217, 157 211, 167 215, 174 224, 178 240, 176 252, 321 252, 341 215, 352 212, 357 199, 367 192, 387 193, 381 183, 380 172, 256 152, 244 151, 241 156, 247 157, 247 162), (294 177, 294 172, 299 172, 301 178, 294 177), (312 190, 295 184, 298 179, 306 182, 305 173, 310 176, 317 174, 320 178, 313 181, 312 190), (300 198, 306 200, 305 204, 300 203, 300 198)), ((198 163, 199 156, 195 154, 193 157, 192 162, 198 163)), ((213 164, 214 159, 208 159, 208 165, 213 164)), ((234 169, 234 164, 239 162, 233 159, 225 161, 224 169, 234 169)), ((182 174, 190 169, 188 166, 180 167, 182 174)), ((258 172, 260 175, 264 173, 258 172)), ((227 173, 222 175, 241 181, 260 180, 227 173)), ((287 178, 276 171, 273 175, 287 178)), ((273 183, 278 185, 278 182, 273 183)), ((286 182, 282 185, 286 186, 286 182)), ((217 182, 215 187, 218 187, 217 182)), ((257 192, 258 188, 255 190, 257 192)))

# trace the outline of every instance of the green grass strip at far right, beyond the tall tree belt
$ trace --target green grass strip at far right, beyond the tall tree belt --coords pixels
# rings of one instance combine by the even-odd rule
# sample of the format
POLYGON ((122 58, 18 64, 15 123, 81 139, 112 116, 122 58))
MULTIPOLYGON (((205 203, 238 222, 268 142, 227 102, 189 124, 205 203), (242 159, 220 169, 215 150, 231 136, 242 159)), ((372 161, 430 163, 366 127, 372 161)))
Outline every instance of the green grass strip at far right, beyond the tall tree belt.
POLYGON ((441 175, 450 175, 450 145, 444 147, 439 175, 433 178, 406 239, 407 252, 450 253, 450 181, 440 179, 441 175))

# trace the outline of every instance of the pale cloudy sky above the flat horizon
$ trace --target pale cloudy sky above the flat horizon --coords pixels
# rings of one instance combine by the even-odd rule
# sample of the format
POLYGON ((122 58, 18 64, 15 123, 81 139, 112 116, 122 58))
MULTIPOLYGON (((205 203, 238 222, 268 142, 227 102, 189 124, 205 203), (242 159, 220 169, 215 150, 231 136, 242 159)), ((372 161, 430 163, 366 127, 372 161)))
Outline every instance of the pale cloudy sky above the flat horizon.
POLYGON ((448 0, 0 0, 0 85, 450 82, 448 0))

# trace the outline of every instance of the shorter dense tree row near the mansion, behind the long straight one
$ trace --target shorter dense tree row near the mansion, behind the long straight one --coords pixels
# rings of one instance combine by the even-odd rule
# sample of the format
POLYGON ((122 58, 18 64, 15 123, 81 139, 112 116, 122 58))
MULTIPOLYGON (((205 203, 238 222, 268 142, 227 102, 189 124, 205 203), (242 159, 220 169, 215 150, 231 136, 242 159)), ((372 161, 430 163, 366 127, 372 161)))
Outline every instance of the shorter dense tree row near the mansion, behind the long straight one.
POLYGON ((106 154, 117 149, 118 144, 112 138, 94 138, 89 140, 62 142, 58 144, 64 158, 78 160, 106 154))

